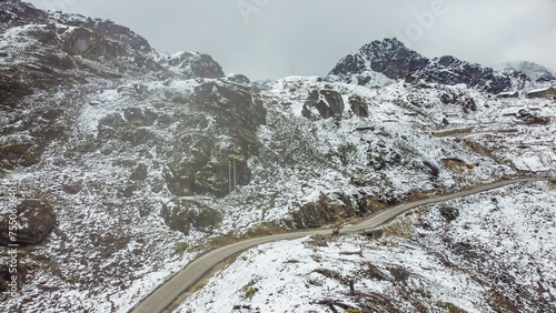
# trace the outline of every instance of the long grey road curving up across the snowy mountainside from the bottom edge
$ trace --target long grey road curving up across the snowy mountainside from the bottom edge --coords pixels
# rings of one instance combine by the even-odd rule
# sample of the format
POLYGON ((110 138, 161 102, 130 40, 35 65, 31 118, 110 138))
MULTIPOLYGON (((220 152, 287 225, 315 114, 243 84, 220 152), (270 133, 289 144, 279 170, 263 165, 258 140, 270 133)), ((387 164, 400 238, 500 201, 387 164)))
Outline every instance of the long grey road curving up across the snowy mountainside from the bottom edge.
MULTIPOLYGON (((437 203, 437 202, 443 202, 456 198, 461 198, 493 189, 498 189, 508 184, 515 184, 515 183, 520 183, 520 182, 528 182, 528 181, 540 181, 540 180, 552 180, 552 178, 529 178, 529 179, 515 179, 515 180, 507 180, 507 181, 502 181, 497 183, 492 183, 492 184, 486 184, 483 186, 478 186, 475 189, 466 190, 466 191, 460 191, 451 194, 446 194, 433 199, 425 199, 411 203, 406 203, 406 204, 400 204, 393 206, 390 209, 380 211, 370 218, 350 225, 346 226, 341 230, 342 233, 359 233, 364 232, 365 230, 373 229, 376 226, 379 226, 399 214, 411 210, 414 208, 425 205, 425 204, 430 204, 430 203, 437 203)), ((249 248, 262 244, 262 243, 268 243, 268 242, 274 242, 274 241, 280 241, 280 240, 291 240, 291 239, 298 239, 307 235, 314 235, 314 234, 330 234, 330 230, 328 229, 318 229, 318 230, 310 230, 310 231, 300 231, 300 232, 291 232, 291 233, 284 233, 284 234, 276 234, 276 235, 268 235, 268 236, 261 236, 261 238, 254 238, 254 239, 248 239, 245 241, 236 242, 229 245, 225 245, 218 249, 215 249, 191 263, 189 263, 183 270, 178 272, 176 275, 173 275, 170 280, 168 280, 166 283, 160 285, 157 290, 155 290, 151 294, 149 294, 146 299, 143 299, 138 305, 136 305, 133 309, 131 309, 131 313, 155 313, 155 312, 161 312, 166 307, 168 307, 171 302, 178 297, 181 293, 186 292, 190 286, 192 286, 195 283, 197 283, 205 274, 210 272, 216 265, 220 264, 221 262, 226 261, 226 259, 230 258, 231 255, 239 253, 241 251, 245 251, 249 248)))

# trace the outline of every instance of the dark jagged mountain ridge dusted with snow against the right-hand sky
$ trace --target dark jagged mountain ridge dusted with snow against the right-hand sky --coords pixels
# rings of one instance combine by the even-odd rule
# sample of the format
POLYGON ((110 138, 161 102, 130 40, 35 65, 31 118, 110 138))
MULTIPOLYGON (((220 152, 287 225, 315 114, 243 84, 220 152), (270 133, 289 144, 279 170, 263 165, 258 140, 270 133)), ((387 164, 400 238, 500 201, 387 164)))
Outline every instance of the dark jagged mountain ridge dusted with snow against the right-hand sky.
POLYGON ((514 68, 497 71, 451 55, 428 59, 395 38, 374 41, 344 57, 326 81, 373 87, 386 85, 407 75, 443 84, 465 83, 489 93, 533 85, 532 78, 514 68))

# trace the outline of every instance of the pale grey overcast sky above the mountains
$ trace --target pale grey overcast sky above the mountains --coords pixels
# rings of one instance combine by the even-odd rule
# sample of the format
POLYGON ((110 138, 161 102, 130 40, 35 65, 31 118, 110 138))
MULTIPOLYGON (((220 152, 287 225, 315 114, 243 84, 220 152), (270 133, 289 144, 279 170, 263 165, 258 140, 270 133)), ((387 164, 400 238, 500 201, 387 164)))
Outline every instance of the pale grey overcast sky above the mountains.
POLYGON ((374 40, 487 65, 556 70, 556 0, 24 0, 129 27, 153 48, 212 55, 251 80, 326 75, 374 40))

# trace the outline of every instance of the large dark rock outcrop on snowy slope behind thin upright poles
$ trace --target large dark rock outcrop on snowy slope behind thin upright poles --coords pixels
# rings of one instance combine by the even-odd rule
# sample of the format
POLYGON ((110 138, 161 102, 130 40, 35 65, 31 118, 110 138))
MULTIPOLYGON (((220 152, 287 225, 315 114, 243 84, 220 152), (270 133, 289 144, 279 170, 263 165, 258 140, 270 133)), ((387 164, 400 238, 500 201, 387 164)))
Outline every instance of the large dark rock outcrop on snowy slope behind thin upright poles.
POLYGON ((199 85, 191 101, 203 115, 212 117, 211 127, 199 120, 200 129, 172 143, 165 172, 168 189, 176 195, 224 196, 230 185, 250 181, 247 161, 256 152, 256 131, 266 122, 266 110, 248 87, 224 81, 199 85))

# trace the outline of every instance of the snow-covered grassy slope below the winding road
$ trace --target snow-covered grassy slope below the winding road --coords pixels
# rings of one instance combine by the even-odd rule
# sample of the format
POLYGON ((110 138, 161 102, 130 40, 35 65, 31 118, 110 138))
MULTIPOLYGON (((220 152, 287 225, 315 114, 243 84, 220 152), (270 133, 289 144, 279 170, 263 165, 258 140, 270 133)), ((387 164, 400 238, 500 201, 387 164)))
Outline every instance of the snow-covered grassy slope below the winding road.
POLYGON ((175 312, 552 312, 554 199, 528 183, 408 212, 379 240, 260 245, 175 312))

